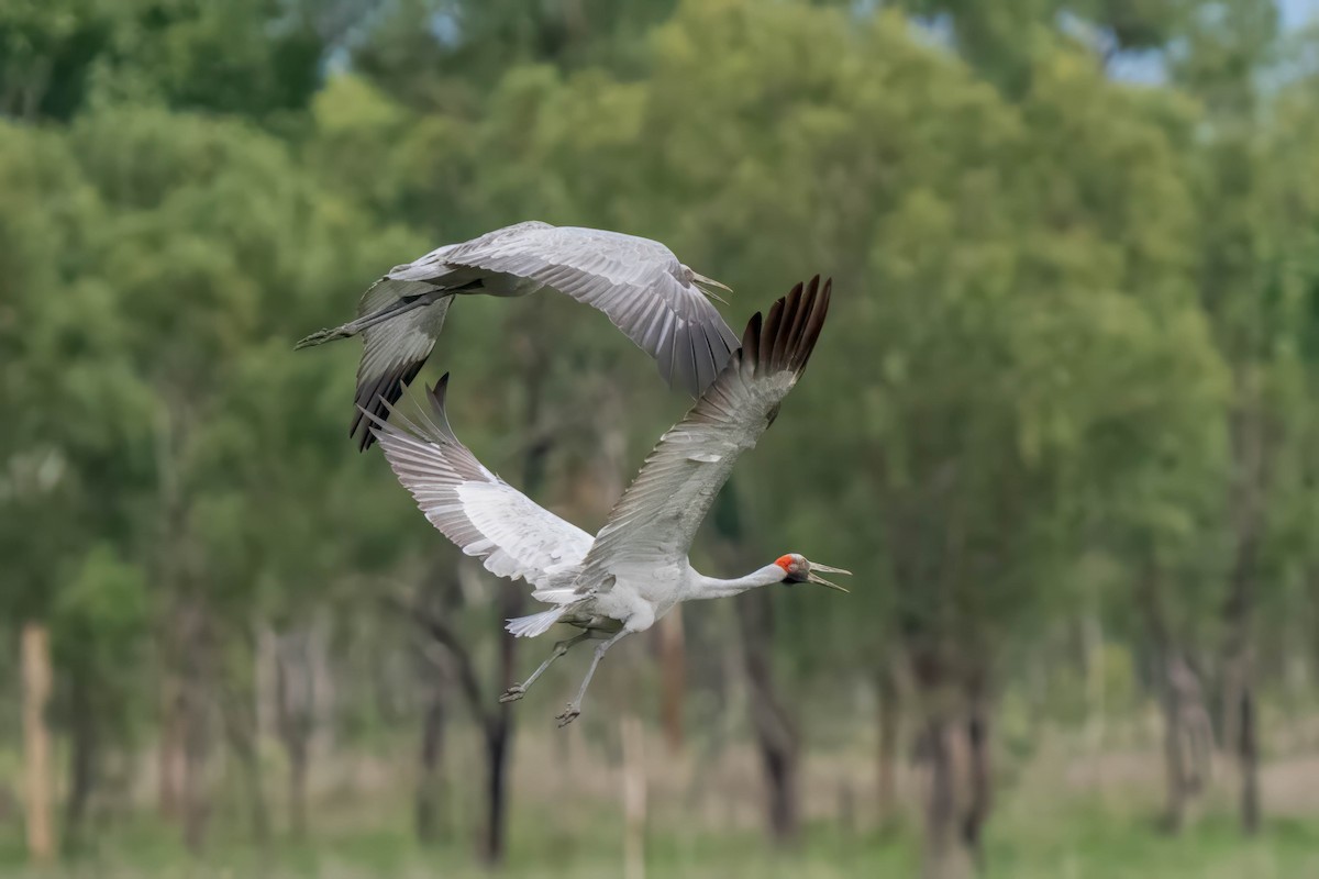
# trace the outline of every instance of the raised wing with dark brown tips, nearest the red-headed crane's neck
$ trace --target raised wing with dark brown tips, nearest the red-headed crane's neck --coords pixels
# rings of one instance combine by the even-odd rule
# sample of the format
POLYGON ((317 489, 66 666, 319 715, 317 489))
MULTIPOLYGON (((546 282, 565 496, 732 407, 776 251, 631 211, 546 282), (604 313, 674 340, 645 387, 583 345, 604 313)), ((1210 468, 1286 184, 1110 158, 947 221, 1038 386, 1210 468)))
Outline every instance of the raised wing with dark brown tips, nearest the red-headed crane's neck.
POLYGON ((646 457, 596 535, 579 592, 607 589, 609 575, 646 572, 686 560, 696 528, 733 464, 773 423, 815 348, 832 282, 819 275, 747 324, 743 345, 686 418, 646 457))

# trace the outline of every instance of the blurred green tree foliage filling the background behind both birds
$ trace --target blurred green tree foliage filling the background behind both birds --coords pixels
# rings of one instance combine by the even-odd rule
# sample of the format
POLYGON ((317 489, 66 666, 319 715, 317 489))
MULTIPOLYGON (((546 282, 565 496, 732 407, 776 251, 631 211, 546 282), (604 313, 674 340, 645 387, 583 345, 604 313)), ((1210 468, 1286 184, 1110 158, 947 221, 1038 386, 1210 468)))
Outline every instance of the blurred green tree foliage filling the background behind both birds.
MULTIPOLYGON (((795 693, 851 706, 897 648, 947 659, 989 679, 1022 759, 1041 705, 1075 722, 1093 681, 1140 710, 1133 586, 1169 584, 1188 654, 1220 634, 1242 418, 1269 461, 1260 604, 1289 634, 1258 651, 1281 677, 1316 652, 1319 91, 1312 34, 1283 53, 1277 30, 1266 0, 8 3, 5 629, 46 619, 62 692, 90 684, 124 743, 181 609, 233 701, 257 698, 260 633, 331 619, 336 673, 368 672, 330 725, 410 720, 410 696, 379 708, 406 687, 375 676, 414 658, 375 608, 442 540, 347 441, 353 345, 291 341, 388 266, 534 217, 670 244, 737 290, 737 328, 834 277, 811 368, 737 476, 751 551, 859 575, 847 600, 780 590, 795 693), (1169 83, 1115 80, 1125 50, 1169 83), (1082 621, 1103 627, 1084 668, 1082 621)), ((551 297, 460 302, 430 369, 510 481, 546 441, 538 499, 587 527, 682 409, 551 297)), ((470 592, 450 610, 487 626, 470 592)), ((714 701, 727 621, 689 629, 714 701)), ((1088 875, 1037 842, 992 858, 1088 875)))

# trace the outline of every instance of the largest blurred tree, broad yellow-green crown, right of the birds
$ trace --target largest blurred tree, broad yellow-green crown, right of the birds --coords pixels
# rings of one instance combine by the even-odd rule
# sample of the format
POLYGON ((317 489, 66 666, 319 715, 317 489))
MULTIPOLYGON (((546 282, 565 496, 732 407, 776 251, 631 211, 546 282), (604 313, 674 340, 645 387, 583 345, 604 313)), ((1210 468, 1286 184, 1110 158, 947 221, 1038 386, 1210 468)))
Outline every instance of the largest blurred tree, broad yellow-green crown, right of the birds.
MULTIPOLYGON (((752 484, 831 498, 794 519, 797 534, 811 519, 880 515, 882 556, 853 564, 892 565, 930 754, 964 735, 973 756, 963 781, 936 767, 946 788, 931 800, 931 859, 976 849, 995 658, 1079 546, 1063 525, 1070 493, 1117 476, 1095 469, 1086 440, 1161 412, 1206 360, 1212 374, 1187 311, 1192 213, 1166 130, 1184 112, 1107 83, 1066 50, 1041 55, 1014 109, 911 43, 901 20, 856 30, 791 7, 683 7, 657 36, 654 63, 641 125, 665 136, 642 134, 654 148, 632 166, 666 181, 648 217, 671 227, 661 237, 702 242, 739 287, 809 274, 802 254, 839 279, 839 316, 797 401, 805 411, 783 427, 797 438, 786 448, 828 452, 818 465, 776 463, 781 476, 752 484), (690 95, 718 128, 683 124, 690 95), (769 127, 773 138, 753 133, 769 127), (1149 324, 1157 357, 1173 356, 1161 335, 1179 327, 1186 365, 1132 361, 1133 320, 1149 324), (1148 387, 1136 399, 1104 390, 1136 382, 1148 387), (840 387, 856 389, 856 424, 820 435, 811 420, 840 387), (826 464, 840 460, 851 473, 826 464)), ((813 528, 824 546, 857 552, 827 527, 813 528)), ((819 621, 805 606, 799 615, 819 621)))

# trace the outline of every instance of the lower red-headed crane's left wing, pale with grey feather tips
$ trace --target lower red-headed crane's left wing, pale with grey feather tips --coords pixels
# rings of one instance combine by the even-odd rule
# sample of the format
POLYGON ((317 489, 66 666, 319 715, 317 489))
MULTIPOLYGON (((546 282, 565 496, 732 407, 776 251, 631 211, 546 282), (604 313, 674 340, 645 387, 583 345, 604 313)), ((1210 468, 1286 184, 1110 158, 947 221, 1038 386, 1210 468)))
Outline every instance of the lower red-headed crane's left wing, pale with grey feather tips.
POLYGON ((430 523, 487 571, 537 589, 551 585, 586 557, 591 535, 491 473, 458 441, 445 414, 447 389, 446 373, 429 394, 434 418, 419 424, 397 411, 389 422, 369 416, 389 467, 430 523))

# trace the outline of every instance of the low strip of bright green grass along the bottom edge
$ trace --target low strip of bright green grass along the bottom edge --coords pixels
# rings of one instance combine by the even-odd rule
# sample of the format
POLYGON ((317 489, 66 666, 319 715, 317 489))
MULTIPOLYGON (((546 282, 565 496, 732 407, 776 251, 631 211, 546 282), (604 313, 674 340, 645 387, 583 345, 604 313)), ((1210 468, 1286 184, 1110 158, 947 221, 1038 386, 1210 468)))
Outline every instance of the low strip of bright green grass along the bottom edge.
MULTIPOLYGON (((549 832, 546 816, 514 826, 504 875, 526 879, 612 879, 619 876, 617 816, 600 813, 595 833, 566 838, 549 832)), ((402 825, 405 826, 405 825, 402 825)), ((1105 808, 1041 809, 991 825, 991 875, 1005 879, 1319 879, 1319 824, 1269 822, 1245 841, 1228 816, 1207 816, 1179 837, 1154 830, 1146 817, 1105 808)), ((845 834, 810 826, 787 853, 766 847, 751 832, 653 833, 648 876, 716 879, 835 879, 913 876, 919 839, 898 830, 845 834)), ((423 849, 400 830, 367 829, 281 841, 266 851, 216 834, 202 858, 187 855, 175 829, 136 824, 108 834, 94 853, 51 871, 28 867, 16 834, 0 839, 0 876, 13 879, 463 879, 489 876, 466 841, 423 849)))

